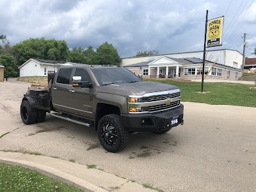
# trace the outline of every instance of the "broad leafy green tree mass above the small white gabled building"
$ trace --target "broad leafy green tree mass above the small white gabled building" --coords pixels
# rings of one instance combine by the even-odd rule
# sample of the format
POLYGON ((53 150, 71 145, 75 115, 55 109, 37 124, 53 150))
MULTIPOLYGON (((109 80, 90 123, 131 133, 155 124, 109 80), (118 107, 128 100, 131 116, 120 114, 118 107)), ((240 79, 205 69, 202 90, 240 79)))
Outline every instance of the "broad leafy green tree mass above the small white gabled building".
POLYGON ((66 61, 68 59, 68 45, 64 40, 45 40, 45 38, 29 38, 13 45, 17 52, 17 63, 22 65, 30 58, 66 61))

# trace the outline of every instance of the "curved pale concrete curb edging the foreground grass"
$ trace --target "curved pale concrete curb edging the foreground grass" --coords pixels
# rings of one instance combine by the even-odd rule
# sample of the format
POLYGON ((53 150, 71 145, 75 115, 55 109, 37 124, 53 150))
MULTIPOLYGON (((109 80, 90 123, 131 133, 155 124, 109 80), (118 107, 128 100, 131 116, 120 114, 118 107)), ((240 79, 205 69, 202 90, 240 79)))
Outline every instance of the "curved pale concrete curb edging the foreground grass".
POLYGON ((17 159, 8 159, 4 157, 0 157, 0 163, 18 165, 18 166, 23 166, 25 168, 29 168, 30 170, 35 170, 37 172, 40 172, 46 175, 47 177, 60 180, 61 182, 65 182, 67 184, 73 185, 76 188, 82 189, 83 191, 86 191, 86 192, 87 191, 97 191, 97 192, 107 191, 106 189, 100 188, 98 186, 94 186, 93 184, 90 184, 85 180, 79 179, 68 173, 61 172, 60 170, 56 170, 54 168, 51 168, 49 166, 45 166, 42 164, 37 164, 37 163, 22 161, 17 159))

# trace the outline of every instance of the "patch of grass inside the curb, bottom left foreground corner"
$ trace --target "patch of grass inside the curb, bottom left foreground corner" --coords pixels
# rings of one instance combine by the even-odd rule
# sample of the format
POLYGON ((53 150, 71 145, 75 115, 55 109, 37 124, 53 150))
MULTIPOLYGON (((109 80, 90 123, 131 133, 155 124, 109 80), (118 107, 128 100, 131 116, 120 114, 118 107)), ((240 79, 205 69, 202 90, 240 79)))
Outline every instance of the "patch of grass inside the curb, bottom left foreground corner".
POLYGON ((0 163, 0 191, 81 191, 41 173, 0 163))

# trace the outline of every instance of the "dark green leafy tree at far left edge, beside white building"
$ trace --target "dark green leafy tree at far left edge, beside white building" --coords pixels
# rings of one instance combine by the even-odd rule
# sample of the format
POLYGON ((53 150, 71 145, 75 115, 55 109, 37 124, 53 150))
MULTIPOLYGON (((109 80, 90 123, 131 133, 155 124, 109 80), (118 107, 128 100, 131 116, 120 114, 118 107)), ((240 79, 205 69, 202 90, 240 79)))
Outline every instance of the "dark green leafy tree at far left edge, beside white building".
POLYGON ((11 54, 0 54, 0 63, 4 65, 4 77, 17 77, 17 61, 11 54))

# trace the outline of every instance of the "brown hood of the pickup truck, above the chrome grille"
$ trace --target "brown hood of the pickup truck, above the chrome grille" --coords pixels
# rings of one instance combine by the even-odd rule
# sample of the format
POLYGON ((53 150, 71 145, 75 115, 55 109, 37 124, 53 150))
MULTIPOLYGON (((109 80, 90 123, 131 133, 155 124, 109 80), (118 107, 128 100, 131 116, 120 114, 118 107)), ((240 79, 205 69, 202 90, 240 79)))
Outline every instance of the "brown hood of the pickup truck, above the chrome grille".
POLYGON ((165 83, 141 81, 136 83, 116 83, 101 86, 100 92, 116 95, 144 95, 145 93, 163 92, 178 89, 177 86, 165 83))

